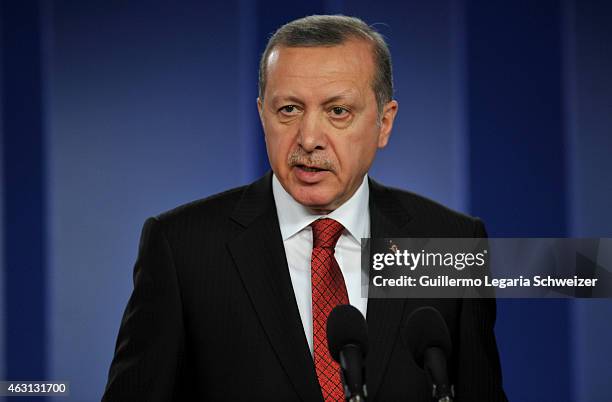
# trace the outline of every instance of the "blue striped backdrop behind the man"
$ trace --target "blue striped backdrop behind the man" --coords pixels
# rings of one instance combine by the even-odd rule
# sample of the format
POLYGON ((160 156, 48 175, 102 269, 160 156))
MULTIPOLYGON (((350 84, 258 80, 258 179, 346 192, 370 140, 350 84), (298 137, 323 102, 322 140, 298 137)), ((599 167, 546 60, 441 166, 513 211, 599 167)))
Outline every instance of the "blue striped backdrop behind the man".
MULTIPOLYGON (((400 113, 373 177, 493 236, 612 237, 610 2, 305 3, 0 1, 0 379, 100 398, 143 221, 267 169, 258 57, 308 14, 389 41, 400 113)), ((500 300, 510 400, 609 400, 611 313, 500 300)))

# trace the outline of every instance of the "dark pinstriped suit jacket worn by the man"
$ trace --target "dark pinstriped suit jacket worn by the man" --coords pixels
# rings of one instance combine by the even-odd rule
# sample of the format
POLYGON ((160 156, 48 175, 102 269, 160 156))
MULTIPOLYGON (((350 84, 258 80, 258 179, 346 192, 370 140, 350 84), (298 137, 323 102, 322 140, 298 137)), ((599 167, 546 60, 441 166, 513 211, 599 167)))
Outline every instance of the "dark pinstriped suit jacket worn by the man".
MULTIPOLYGON (((370 181, 372 237, 484 237, 484 226, 370 181)), ((456 401, 505 401, 494 300, 370 299, 371 401, 429 401, 401 329, 422 305, 453 340, 456 401)), ((104 401, 320 401, 272 196, 257 182, 150 218, 104 401)))

